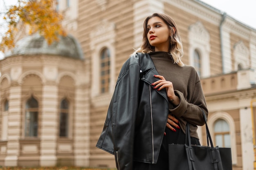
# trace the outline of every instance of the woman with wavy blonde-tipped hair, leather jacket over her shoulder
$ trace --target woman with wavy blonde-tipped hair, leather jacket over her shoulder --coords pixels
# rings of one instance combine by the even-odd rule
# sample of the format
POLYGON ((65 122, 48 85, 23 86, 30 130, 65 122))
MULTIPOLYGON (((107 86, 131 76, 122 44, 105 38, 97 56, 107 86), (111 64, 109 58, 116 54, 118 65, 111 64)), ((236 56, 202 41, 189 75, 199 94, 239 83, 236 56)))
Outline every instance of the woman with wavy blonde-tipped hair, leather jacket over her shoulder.
POLYGON ((168 144, 200 145, 197 126, 208 115, 200 79, 185 66, 173 19, 154 13, 144 21, 143 44, 117 79, 97 147, 115 154, 118 170, 168 170, 168 144))

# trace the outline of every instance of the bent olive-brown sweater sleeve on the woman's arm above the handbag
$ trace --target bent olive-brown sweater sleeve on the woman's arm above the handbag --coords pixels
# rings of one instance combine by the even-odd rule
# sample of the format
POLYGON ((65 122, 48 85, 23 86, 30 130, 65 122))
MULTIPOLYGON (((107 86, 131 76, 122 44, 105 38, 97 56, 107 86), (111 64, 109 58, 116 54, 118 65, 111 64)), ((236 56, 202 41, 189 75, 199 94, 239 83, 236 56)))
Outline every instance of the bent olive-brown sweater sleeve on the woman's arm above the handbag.
POLYGON ((203 126, 205 122, 202 116, 202 110, 204 110, 206 117, 208 116, 208 110, 200 81, 195 83, 193 94, 189 98, 189 102, 182 92, 175 90, 175 94, 180 97, 180 104, 170 109, 171 113, 177 118, 183 117, 193 125, 203 126))

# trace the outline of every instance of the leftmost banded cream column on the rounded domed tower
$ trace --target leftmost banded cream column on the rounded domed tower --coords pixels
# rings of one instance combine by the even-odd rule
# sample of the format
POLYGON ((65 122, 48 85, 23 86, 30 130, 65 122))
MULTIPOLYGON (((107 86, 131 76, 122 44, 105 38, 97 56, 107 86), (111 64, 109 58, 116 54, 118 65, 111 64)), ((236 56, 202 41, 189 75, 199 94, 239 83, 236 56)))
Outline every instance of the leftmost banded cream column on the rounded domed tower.
POLYGON ((7 130, 7 156, 4 166, 18 166, 18 155, 20 148, 20 120, 21 120, 21 86, 10 87, 9 116, 7 130))

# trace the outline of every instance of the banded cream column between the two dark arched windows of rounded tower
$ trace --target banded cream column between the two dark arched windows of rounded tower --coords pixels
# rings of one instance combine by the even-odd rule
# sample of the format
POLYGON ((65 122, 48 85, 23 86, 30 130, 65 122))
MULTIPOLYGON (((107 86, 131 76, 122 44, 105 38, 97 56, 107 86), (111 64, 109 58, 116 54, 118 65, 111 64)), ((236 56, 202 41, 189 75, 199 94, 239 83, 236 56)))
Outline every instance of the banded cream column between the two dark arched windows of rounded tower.
POLYGON ((56 166, 58 87, 43 86, 41 113, 40 166, 56 166))

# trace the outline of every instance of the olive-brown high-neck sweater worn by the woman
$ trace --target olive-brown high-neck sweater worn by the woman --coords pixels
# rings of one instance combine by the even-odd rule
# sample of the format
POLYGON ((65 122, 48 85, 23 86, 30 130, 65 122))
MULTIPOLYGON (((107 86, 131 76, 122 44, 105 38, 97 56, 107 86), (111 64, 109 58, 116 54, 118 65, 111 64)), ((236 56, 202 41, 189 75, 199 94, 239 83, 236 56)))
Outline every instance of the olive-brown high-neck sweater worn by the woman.
POLYGON ((198 138, 197 126, 204 125, 202 108, 208 115, 208 110, 200 83, 200 78, 192 66, 180 67, 174 64, 171 55, 167 52, 158 51, 149 53, 159 75, 173 83, 175 94, 180 97, 180 104, 173 106, 170 103, 170 113, 179 120, 181 129, 185 133, 186 122, 189 121, 191 137, 198 138))

